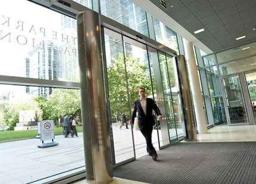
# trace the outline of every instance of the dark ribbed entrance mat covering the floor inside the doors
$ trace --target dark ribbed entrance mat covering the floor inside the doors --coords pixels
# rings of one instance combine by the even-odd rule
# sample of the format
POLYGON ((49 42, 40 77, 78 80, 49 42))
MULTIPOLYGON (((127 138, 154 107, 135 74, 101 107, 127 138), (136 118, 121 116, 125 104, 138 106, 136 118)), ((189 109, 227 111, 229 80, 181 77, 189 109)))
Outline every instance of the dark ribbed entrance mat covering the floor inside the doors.
MULTIPOLYGON (((146 149, 146 148, 145 148, 146 149)), ((155 184, 255 184, 256 142, 177 142, 115 167, 114 177, 155 184)))

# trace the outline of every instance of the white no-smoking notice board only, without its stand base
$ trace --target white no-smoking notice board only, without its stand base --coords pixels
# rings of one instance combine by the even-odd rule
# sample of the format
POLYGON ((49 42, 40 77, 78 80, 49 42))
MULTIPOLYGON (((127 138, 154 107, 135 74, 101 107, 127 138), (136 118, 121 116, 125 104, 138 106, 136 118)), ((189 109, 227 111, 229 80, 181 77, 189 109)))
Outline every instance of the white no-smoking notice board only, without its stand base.
POLYGON ((54 120, 42 120, 40 122, 41 141, 54 139, 54 120))

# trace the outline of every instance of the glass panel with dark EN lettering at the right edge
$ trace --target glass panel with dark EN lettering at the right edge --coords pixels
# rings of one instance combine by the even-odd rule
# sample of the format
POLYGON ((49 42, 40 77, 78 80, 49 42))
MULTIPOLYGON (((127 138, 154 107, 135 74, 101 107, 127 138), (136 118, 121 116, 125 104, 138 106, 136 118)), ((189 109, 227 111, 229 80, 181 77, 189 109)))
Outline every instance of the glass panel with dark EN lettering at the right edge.
POLYGON ((245 74, 254 123, 256 122, 256 72, 245 74))

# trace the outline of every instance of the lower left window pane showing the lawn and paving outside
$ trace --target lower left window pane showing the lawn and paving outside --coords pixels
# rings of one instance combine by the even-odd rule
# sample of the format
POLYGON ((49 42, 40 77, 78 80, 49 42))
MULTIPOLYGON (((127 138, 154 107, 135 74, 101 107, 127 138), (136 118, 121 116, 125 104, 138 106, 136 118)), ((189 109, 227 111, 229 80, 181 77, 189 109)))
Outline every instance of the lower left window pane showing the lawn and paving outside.
MULTIPOLYGON (((27 94, 27 87, 40 88, 0 85, 0 94, 5 93, 8 99, 0 113, 1 129, 8 130, 0 132, 1 183, 30 183, 77 168, 85 169, 80 90, 53 88, 46 98, 27 94), (78 137, 64 138, 61 117, 66 113, 76 116, 78 137), (36 138, 40 135, 41 120, 53 120, 57 146, 38 148, 42 146, 40 136, 36 138)), ((43 142, 51 144, 52 140, 43 142)))

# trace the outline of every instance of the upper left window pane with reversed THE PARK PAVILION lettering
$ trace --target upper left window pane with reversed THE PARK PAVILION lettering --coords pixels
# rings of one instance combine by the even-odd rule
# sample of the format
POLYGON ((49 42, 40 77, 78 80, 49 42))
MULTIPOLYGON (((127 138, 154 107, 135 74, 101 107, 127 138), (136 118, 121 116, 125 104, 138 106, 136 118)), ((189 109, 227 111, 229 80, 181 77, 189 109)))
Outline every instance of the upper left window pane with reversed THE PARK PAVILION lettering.
MULTIPOLYGON (((1 63, 0 74, 71 81, 78 66, 76 20, 29 1, 17 1, 15 7, 13 4, 14 1, 1 1, 2 6, 11 7, 12 11, 1 10, 0 49, 9 54, 0 55, 0 60, 5 61, 1 63), (19 4, 29 13, 24 13, 19 4)), ((48 95, 51 91, 42 90, 39 94, 43 93, 48 95)))

